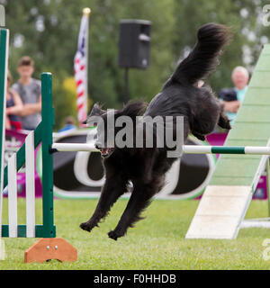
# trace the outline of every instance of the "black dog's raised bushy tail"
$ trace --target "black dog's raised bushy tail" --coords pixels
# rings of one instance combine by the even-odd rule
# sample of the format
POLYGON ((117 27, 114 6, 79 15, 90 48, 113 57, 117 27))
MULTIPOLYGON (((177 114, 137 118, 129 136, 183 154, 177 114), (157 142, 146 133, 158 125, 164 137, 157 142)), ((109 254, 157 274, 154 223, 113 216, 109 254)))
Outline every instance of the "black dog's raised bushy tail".
POLYGON ((199 29, 197 38, 193 50, 178 65, 171 80, 193 85, 206 78, 218 65, 221 49, 230 39, 229 28, 208 23, 199 29))

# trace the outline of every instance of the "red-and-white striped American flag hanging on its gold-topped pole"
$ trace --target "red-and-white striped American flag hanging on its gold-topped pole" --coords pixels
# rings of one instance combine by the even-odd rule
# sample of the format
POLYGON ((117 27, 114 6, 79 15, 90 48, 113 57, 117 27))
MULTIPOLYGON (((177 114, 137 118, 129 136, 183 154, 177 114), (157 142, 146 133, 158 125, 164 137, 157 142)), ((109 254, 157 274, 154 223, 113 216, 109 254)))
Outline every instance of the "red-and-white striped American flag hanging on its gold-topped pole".
MULTIPOLYGON (((87 8, 85 8, 87 9, 87 8)), ((90 9, 86 10, 81 21, 77 50, 74 58, 74 73, 76 81, 77 119, 82 124, 87 114, 87 57, 88 57, 88 19, 90 9)))

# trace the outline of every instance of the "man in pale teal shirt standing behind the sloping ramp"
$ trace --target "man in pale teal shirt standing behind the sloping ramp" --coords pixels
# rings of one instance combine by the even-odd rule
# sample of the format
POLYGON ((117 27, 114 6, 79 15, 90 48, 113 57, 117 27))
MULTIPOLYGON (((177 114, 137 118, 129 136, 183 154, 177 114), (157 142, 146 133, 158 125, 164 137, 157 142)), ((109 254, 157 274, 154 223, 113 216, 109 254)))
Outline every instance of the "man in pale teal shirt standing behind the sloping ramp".
POLYGON ((243 102, 247 93, 249 80, 248 72, 245 67, 235 67, 231 74, 234 88, 224 88, 220 90, 220 99, 224 103, 224 111, 229 117, 230 124, 233 125, 240 104, 243 102))

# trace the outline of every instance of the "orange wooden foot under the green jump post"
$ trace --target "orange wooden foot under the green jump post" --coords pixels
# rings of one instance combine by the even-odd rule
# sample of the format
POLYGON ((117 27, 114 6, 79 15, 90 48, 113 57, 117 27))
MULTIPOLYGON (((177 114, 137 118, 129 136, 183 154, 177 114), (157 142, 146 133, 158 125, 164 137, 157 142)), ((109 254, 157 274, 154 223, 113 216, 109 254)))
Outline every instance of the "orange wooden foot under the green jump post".
POLYGON ((61 262, 76 261, 76 248, 64 238, 40 238, 24 252, 25 263, 42 263, 51 259, 58 259, 61 262))

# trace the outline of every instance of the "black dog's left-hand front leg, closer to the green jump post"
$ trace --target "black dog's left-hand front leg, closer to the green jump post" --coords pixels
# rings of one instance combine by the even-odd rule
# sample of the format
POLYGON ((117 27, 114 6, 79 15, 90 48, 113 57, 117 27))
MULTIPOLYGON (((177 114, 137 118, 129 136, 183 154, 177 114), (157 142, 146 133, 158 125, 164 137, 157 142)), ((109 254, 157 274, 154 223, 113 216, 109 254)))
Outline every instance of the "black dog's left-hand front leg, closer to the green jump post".
POLYGON ((121 175, 113 175, 106 178, 105 184, 93 216, 84 223, 80 228, 90 232, 104 217, 107 216, 112 205, 127 190, 128 179, 121 175))

